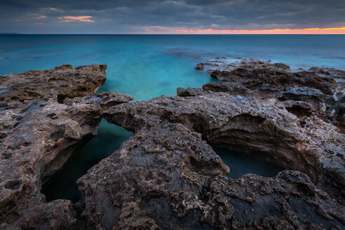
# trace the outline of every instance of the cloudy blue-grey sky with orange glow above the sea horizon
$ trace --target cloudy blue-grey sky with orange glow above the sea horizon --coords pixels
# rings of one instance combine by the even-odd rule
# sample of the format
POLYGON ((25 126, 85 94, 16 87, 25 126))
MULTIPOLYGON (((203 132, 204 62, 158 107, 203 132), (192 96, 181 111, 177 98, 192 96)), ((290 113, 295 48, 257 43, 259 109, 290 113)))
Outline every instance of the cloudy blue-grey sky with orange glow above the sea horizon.
POLYGON ((345 0, 0 0, 0 32, 345 34, 345 0))

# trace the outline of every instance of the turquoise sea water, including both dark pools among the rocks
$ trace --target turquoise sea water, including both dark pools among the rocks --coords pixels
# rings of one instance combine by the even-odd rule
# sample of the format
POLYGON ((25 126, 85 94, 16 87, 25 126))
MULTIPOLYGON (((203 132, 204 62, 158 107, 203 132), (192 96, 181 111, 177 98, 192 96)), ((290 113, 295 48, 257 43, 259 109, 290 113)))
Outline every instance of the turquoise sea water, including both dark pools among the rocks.
MULTIPOLYGON (((312 66, 345 69, 344 35, 0 35, 0 75, 29 69, 52 69, 66 63, 74 67, 107 64, 101 91, 126 93, 135 100, 176 95, 177 87, 201 87, 212 81, 194 69, 217 56, 252 57, 283 62, 292 69, 312 66)), ((77 201, 75 181, 88 168, 109 156, 131 133, 102 121, 99 135, 88 142, 53 180, 43 187, 48 200, 77 201)), ((231 177, 253 172, 256 163, 219 155, 231 177), (232 164, 232 165, 231 165, 232 164), (238 168, 238 165, 241 167, 238 168), (236 169, 237 168, 237 169, 236 169)), ((273 176, 260 163, 254 172, 273 176)))

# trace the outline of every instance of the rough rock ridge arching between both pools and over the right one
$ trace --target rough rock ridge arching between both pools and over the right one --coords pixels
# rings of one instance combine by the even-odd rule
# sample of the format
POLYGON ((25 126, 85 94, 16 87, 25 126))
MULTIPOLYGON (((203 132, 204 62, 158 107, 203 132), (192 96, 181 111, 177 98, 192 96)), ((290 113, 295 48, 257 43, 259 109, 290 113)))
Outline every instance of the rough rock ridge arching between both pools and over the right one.
POLYGON ((210 144, 269 153, 284 168, 302 171, 315 182, 328 181, 336 194, 344 192, 344 180, 339 179, 344 177, 345 139, 332 124, 316 116, 296 116, 289 111, 293 101, 201 89, 184 90, 184 95, 186 91, 194 96, 120 104, 104 117, 133 132, 163 122, 182 123, 210 144))

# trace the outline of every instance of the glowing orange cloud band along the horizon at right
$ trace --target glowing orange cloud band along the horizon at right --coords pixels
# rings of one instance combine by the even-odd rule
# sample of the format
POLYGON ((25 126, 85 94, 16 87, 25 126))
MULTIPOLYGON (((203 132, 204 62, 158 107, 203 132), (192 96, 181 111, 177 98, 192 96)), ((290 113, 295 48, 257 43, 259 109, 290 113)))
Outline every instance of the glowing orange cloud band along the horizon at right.
POLYGON ((345 27, 306 29, 197 29, 144 27, 147 33, 163 34, 345 34, 345 27))

